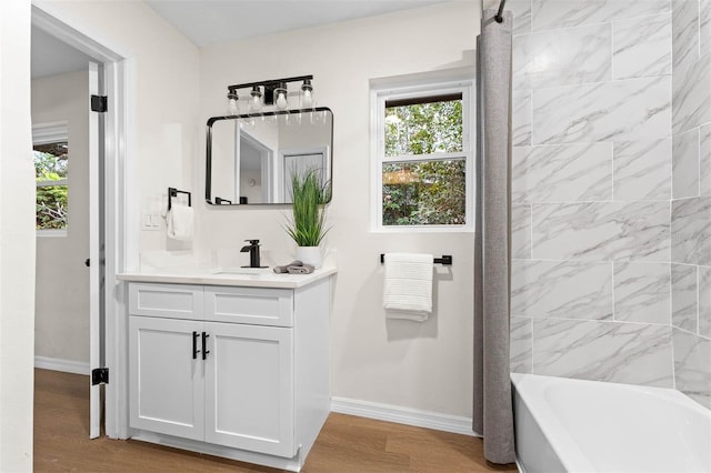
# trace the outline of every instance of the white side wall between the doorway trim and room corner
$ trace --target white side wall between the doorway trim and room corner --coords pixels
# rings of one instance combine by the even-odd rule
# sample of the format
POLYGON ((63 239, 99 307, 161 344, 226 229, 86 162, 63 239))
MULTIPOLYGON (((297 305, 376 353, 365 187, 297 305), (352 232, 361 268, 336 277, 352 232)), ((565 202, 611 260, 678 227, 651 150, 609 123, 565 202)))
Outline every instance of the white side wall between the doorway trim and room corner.
MULTIPOLYGON (((129 123, 127 177, 129 218, 138 229, 141 210, 156 212, 169 187, 191 189, 198 155, 198 48, 140 1, 47 1, 34 4, 128 59, 129 123)), ((200 152, 199 155, 202 155, 200 152)), ((167 246, 161 232, 141 232, 141 250, 167 246)), ((129 255, 131 258, 132 255, 129 255)))

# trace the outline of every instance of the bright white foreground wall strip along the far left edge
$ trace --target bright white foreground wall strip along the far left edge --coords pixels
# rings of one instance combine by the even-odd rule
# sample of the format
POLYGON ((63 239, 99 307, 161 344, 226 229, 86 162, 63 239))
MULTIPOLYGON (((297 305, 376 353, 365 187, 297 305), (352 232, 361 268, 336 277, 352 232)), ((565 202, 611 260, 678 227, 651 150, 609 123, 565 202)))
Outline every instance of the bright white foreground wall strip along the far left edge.
POLYGON ((0 2, 0 471, 32 470, 30 1, 0 2))

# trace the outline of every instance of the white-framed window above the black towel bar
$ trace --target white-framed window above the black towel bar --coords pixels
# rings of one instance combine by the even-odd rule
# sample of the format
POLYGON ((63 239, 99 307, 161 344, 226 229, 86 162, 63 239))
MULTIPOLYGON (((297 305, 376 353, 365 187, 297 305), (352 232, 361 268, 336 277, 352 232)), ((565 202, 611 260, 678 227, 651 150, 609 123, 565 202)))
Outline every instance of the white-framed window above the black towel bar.
POLYGON ((471 82, 373 91, 381 231, 471 231, 471 82))

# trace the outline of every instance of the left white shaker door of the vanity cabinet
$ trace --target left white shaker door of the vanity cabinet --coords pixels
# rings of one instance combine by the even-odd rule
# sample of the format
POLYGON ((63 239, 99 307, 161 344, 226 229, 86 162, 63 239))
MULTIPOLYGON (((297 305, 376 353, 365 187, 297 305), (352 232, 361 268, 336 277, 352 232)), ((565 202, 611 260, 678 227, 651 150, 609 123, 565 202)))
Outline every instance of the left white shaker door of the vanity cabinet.
POLYGON ((130 425, 202 440, 202 322, 129 316, 130 425))

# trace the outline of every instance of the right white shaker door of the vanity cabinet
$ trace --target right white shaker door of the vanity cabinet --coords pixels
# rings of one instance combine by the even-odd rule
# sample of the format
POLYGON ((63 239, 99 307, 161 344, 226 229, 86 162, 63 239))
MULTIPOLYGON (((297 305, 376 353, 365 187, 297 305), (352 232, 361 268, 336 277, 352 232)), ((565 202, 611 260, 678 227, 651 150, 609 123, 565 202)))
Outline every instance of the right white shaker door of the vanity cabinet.
POLYGON ((206 441, 292 457, 292 330, 206 322, 206 441))

